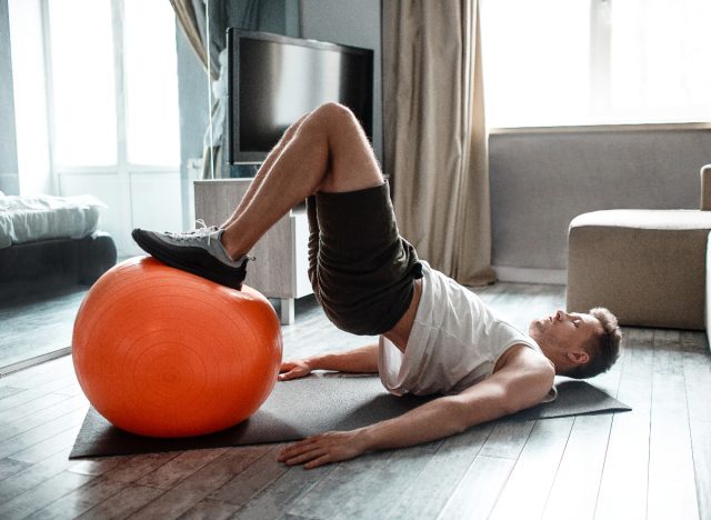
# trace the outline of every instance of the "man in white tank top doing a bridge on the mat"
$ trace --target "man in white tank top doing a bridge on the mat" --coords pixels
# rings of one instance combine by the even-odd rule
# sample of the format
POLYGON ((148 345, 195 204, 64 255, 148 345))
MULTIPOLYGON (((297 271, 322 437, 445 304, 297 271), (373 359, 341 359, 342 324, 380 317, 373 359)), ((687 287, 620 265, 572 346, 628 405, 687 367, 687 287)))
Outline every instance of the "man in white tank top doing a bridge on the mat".
POLYGON ((398 232, 388 190, 357 119, 329 103, 284 132, 219 228, 133 231, 169 266, 239 289, 257 240, 307 199, 309 276, 319 303, 340 329, 380 340, 284 362, 280 379, 314 369, 377 372, 392 393, 441 394, 391 420, 297 442, 280 453, 287 464, 316 468, 451 436, 550 399, 557 373, 591 377, 618 357, 620 330, 607 309, 558 311, 534 320, 529 334, 501 320, 418 259, 398 232))

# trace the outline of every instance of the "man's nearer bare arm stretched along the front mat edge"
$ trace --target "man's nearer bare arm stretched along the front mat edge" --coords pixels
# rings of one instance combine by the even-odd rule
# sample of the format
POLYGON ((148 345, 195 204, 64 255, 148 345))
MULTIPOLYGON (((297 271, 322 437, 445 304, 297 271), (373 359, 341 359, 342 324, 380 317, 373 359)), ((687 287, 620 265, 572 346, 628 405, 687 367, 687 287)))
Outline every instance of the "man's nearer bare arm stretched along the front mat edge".
MULTIPOLYGON (((527 349, 522 347, 522 349, 527 349)), ((469 427, 539 403, 550 390, 552 367, 519 351, 501 370, 457 396, 428 402, 398 418, 352 431, 327 432, 284 449, 279 460, 316 468, 369 450, 402 448, 459 433, 469 427)))

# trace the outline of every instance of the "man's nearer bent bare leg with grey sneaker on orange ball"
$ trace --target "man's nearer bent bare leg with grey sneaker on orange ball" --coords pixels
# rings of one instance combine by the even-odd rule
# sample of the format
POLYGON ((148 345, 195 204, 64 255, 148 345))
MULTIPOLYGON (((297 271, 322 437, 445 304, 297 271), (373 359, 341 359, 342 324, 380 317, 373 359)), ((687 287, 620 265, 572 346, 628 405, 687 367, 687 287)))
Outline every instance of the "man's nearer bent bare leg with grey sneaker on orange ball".
POLYGON ((302 118, 260 170, 224 230, 157 233, 133 238, 169 266, 240 288, 244 254, 291 208, 316 191, 356 191, 383 182, 372 149, 356 117, 329 103, 302 118), (238 260, 236 260, 238 259, 238 260))

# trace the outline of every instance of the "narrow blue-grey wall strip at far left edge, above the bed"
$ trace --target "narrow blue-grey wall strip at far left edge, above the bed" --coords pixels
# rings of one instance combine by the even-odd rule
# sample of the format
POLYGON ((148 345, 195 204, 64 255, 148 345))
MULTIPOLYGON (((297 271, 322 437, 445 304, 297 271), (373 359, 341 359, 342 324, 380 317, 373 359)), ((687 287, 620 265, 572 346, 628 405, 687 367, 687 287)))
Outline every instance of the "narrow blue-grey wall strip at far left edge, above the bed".
POLYGON ((8 0, 0 0, 0 191, 19 194, 8 0))

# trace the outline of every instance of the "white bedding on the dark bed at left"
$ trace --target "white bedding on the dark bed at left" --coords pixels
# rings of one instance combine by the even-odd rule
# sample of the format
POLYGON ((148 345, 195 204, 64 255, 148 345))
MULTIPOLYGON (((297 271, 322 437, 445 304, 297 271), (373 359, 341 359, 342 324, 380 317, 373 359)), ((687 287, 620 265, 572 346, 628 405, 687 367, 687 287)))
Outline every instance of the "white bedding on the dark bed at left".
POLYGON ((36 240, 87 237, 99 226, 99 208, 106 204, 93 196, 3 197, 0 192, 0 249, 36 240))

